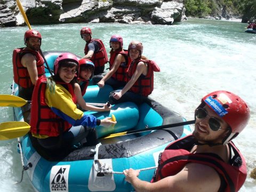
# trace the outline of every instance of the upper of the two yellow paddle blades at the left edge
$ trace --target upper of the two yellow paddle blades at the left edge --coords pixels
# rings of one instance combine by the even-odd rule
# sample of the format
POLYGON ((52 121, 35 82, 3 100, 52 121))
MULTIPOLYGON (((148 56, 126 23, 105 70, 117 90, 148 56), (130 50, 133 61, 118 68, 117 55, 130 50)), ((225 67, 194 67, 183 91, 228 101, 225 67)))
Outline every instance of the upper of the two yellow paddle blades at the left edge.
POLYGON ((0 107, 21 107, 28 101, 15 95, 0 94, 0 107))

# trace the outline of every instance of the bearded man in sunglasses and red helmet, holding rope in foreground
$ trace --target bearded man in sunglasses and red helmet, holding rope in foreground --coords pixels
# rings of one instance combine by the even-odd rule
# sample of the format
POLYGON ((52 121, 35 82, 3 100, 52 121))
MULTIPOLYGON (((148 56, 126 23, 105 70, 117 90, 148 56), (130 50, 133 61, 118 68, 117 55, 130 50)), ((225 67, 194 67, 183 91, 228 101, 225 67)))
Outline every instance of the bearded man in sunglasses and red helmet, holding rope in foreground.
POLYGON ((139 170, 124 170, 138 191, 238 191, 246 179, 245 159, 234 139, 246 126, 250 109, 237 95, 215 91, 195 110, 193 134, 174 141, 159 155, 151 182, 139 170))

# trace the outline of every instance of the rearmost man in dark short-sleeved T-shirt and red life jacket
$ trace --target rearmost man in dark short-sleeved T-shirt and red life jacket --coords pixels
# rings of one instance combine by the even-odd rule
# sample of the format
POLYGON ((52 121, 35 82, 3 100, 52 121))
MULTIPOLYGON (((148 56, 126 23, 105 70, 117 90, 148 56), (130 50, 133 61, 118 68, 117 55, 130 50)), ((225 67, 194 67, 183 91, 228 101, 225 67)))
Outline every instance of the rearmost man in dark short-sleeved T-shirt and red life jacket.
POLYGON ((94 63, 94 75, 103 73, 105 64, 108 62, 108 55, 101 39, 93 39, 92 30, 89 27, 83 27, 80 35, 86 42, 83 59, 90 59, 94 63))

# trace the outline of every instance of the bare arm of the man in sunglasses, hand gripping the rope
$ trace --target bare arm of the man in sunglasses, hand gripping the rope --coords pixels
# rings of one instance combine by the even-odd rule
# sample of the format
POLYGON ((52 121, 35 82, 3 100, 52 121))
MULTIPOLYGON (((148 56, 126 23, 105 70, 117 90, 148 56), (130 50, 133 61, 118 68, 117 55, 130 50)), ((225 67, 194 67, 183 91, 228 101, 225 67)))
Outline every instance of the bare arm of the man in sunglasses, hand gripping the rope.
POLYGON ((138 170, 125 170, 125 180, 130 182, 137 192, 143 191, 218 191, 220 178, 210 166, 189 163, 179 173, 154 183, 138 178, 138 170))

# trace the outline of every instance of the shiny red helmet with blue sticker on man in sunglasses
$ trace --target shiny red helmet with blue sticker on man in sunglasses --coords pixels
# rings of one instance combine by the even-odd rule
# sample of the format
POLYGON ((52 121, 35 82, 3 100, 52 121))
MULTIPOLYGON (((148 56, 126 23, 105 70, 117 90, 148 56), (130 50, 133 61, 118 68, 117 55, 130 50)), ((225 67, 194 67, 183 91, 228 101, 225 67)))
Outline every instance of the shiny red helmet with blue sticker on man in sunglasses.
POLYGON ((208 107, 218 114, 231 127, 231 135, 226 142, 233 139, 233 136, 241 133, 250 119, 250 109, 245 101, 234 93, 228 91, 215 91, 202 98, 208 107))

